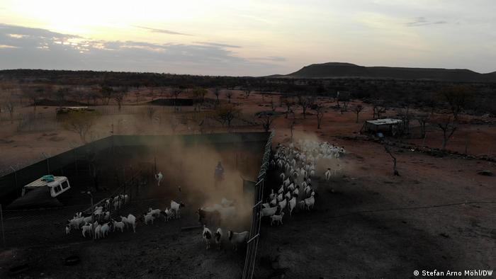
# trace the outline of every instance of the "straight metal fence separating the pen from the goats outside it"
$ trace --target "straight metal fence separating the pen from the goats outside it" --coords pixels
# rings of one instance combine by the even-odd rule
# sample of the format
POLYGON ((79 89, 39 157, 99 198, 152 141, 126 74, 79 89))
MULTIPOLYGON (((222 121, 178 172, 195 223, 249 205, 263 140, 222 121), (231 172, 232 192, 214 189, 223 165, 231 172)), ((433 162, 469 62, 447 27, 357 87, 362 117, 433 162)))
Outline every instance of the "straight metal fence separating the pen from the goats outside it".
POLYGON ((266 176, 266 171, 269 168, 269 160, 271 156, 271 146, 272 137, 274 132, 271 132, 269 139, 265 145, 264 156, 261 161, 261 168, 259 176, 257 178, 257 183, 255 184, 255 205, 253 206, 252 215, 252 227, 249 229, 249 240, 247 244, 247 256, 244 259, 244 268, 242 273, 243 279, 248 279, 253 277, 253 272, 255 268, 255 262, 257 260, 257 247, 260 238, 260 224, 261 224, 261 204, 264 200, 264 181, 266 176))

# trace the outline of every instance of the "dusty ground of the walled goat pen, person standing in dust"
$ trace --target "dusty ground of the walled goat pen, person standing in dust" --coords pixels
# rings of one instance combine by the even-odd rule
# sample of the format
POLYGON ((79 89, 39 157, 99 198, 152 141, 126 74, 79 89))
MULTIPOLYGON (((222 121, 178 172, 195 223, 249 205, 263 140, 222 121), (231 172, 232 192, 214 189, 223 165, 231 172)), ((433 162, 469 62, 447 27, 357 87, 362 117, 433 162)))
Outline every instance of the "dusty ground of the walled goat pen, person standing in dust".
POLYGON ((97 276, 101 269, 101 275, 117 278, 126 274, 239 277, 244 249, 230 251, 226 241, 221 251, 205 251, 200 230, 195 229, 195 212, 199 207, 220 203, 221 198, 235 200, 237 217, 220 227, 226 235, 231 229, 249 230, 254 195, 252 191, 243 193, 243 180, 257 180, 268 135, 113 136, 11 173, 0 179, 2 189, 11 189, 4 201, 12 200, 27 181, 39 178, 48 169, 52 174, 67 176, 72 188, 61 197, 62 207, 4 210, 5 244, 11 253, 18 253, 19 265, 30 266, 28 273, 32 275, 86 277, 97 276), (62 164, 62 159, 66 163, 62 164), (214 183, 213 170, 218 161, 225 167, 225 178, 214 183), (164 179, 158 186, 154 173, 159 171, 164 179), (88 190, 94 203, 120 194, 130 197, 128 204, 111 211, 113 218, 130 213, 139 217, 150 207, 164 210, 171 200, 181 201, 186 207, 180 219, 155 220, 153 225, 138 223, 135 234, 132 230, 114 232, 96 241, 84 239, 77 230, 66 235, 67 220, 91 206, 88 190), (79 256, 81 263, 65 267, 63 259, 72 255, 79 256), (148 264, 151 261, 157 265, 148 264))

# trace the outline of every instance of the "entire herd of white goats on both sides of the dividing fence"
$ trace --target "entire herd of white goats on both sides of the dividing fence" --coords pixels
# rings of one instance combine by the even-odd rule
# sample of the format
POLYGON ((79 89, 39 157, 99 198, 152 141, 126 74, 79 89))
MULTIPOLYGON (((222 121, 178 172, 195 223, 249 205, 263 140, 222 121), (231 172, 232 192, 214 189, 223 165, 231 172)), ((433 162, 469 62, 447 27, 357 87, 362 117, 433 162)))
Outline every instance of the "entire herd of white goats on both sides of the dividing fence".
MULTIPOLYGON (((269 217, 271 226, 274 224, 283 224, 285 213, 291 217, 295 208, 305 211, 312 210, 315 205, 315 189, 312 188, 312 178, 316 176, 317 162, 321 159, 337 159, 344 156, 345 150, 342 147, 336 147, 334 144, 327 142, 316 142, 312 140, 300 140, 291 143, 288 146, 278 144, 276 152, 270 161, 271 169, 278 173, 280 186, 271 187, 266 203, 262 204, 261 217, 269 217)), ((327 168, 323 173, 326 181, 335 175, 339 169, 327 168)), ((157 174, 162 180, 162 173, 157 174)), ((71 220, 67 221, 65 227, 66 234, 71 231, 81 230, 83 237, 92 237, 93 239, 105 238, 111 232, 124 232, 125 229, 133 229, 136 232, 136 223, 141 221, 144 224, 153 224, 154 220, 162 218, 165 222, 171 219, 181 217, 181 207, 184 203, 176 203, 171 200, 171 207, 165 210, 148 209, 143 215, 135 217, 132 214, 128 216, 117 217, 116 220, 111 218, 111 207, 117 211, 123 205, 129 202, 128 195, 116 195, 113 198, 103 200, 100 206, 94 207, 91 214, 77 212, 71 220)), ((206 243, 206 249, 210 249, 211 244, 215 241, 216 246, 220 249, 224 233, 220 228, 220 223, 227 220, 235 220, 237 209, 235 200, 222 198, 220 204, 210 207, 201 207, 196 213, 198 222, 203 224, 202 238, 206 243), (213 233, 207 226, 217 225, 218 229, 213 233)), ((247 242, 249 232, 227 232, 227 239, 232 244, 234 250, 239 245, 247 242)))

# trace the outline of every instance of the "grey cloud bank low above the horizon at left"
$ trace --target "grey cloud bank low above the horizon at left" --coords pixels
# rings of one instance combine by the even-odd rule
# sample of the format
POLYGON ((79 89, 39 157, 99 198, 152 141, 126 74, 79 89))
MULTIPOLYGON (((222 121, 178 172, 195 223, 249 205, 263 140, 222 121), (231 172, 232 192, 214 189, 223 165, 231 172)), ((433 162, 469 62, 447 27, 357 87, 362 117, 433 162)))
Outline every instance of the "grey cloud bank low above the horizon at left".
POLYGON ((0 25, 2 69, 91 69, 176 74, 258 75, 281 71, 265 61, 240 57, 235 45, 91 40, 39 28, 0 25), (11 36, 14 34, 14 36, 11 36))

